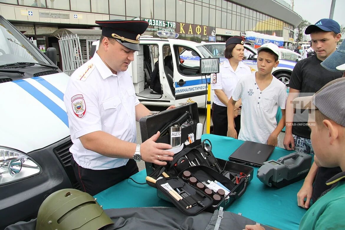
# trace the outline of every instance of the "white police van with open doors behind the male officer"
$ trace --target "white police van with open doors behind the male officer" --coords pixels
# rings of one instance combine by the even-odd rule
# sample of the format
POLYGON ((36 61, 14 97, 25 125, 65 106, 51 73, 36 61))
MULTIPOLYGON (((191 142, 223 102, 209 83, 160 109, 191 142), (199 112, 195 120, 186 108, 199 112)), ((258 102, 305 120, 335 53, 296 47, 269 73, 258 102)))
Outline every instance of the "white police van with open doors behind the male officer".
MULTIPOLYGON (((205 108, 206 80, 210 81, 210 76, 200 74, 199 60, 213 55, 203 44, 141 36, 139 45, 140 51, 135 52, 128 72, 142 104, 178 106, 180 103, 194 101, 199 108, 205 108), (193 60, 195 57, 186 59, 186 52, 192 52, 198 60, 193 60)), ((94 53, 98 50, 99 41, 93 42, 92 46, 94 53)), ((91 56, 93 53, 91 52, 91 56)))

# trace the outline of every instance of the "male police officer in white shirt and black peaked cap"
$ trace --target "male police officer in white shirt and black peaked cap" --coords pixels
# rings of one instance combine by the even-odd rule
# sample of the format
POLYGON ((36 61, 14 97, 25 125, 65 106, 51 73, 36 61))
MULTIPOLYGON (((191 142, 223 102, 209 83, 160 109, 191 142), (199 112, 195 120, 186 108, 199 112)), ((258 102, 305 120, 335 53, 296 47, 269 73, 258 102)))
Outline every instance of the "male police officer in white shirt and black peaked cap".
POLYGON ((73 142, 71 165, 82 190, 92 196, 138 172, 136 161, 165 165, 173 155, 164 150, 169 144, 155 143, 159 133, 136 144, 136 121, 150 111, 136 97, 127 68, 148 23, 96 23, 102 26, 99 49, 72 74, 63 98, 73 142))

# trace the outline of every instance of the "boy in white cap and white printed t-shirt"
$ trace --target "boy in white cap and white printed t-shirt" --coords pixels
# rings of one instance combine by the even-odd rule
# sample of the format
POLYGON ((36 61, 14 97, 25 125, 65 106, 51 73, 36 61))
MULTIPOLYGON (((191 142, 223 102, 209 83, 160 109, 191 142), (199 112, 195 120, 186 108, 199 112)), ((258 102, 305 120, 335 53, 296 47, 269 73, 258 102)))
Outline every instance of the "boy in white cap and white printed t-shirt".
POLYGON ((234 128, 234 106, 242 99, 240 140, 277 146, 278 134, 285 125, 286 87, 272 76, 272 70, 279 64, 279 47, 273 43, 263 44, 258 49, 258 71, 240 78, 228 101, 228 137, 237 138, 234 128), (282 119, 277 124, 278 106, 282 119))

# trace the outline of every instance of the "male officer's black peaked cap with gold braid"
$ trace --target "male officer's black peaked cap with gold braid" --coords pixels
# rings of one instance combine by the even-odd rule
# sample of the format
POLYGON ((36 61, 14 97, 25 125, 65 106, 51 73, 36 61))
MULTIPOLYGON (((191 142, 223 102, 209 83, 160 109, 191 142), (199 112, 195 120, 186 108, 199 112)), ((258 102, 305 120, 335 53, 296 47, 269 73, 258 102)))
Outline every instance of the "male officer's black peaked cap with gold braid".
POLYGON ((128 49, 140 51, 139 38, 145 32, 149 23, 146 21, 133 20, 106 20, 95 21, 102 26, 102 35, 108 38, 115 38, 128 49))

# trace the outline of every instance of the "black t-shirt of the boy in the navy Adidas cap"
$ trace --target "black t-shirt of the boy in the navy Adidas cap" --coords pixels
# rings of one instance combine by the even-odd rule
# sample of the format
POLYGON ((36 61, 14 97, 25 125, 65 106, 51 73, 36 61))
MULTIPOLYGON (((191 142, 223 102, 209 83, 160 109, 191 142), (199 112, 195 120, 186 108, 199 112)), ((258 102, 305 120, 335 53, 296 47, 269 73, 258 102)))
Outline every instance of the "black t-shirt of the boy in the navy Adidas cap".
MULTIPOLYGON (((332 72, 323 68, 321 62, 315 54, 296 63, 291 74, 289 87, 299 90, 300 97, 312 96, 328 82, 343 76, 341 71, 332 72)), ((294 115, 292 133, 310 139, 310 131, 307 126, 308 111, 296 110, 294 115)))

